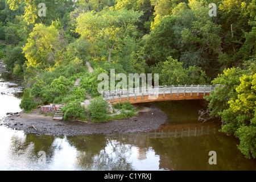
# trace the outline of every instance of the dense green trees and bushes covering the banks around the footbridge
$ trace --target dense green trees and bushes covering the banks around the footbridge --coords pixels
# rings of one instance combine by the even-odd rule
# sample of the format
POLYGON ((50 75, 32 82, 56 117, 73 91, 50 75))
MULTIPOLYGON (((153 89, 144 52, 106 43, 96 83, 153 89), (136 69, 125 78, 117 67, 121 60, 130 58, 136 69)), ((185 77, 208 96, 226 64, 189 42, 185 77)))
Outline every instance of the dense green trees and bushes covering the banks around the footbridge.
POLYGON ((80 114, 85 91, 97 98, 89 117, 109 119, 97 85, 110 69, 159 73, 160 85, 220 84, 209 109, 255 158, 255 13, 255 0, 0 0, 0 59, 24 77, 20 107, 67 104, 71 119, 88 119, 80 114), (81 88, 72 88, 77 78, 81 88))

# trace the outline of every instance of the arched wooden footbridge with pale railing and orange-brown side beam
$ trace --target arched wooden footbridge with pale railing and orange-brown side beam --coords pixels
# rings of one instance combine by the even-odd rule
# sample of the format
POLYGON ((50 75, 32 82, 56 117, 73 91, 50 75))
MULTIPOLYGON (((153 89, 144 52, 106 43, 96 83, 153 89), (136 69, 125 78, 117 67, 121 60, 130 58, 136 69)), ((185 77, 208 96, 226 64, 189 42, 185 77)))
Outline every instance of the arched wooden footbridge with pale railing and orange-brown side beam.
POLYGON ((102 97, 112 104, 129 101, 131 104, 170 100, 203 100, 214 90, 213 85, 177 85, 131 88, 102 92, 102 97))

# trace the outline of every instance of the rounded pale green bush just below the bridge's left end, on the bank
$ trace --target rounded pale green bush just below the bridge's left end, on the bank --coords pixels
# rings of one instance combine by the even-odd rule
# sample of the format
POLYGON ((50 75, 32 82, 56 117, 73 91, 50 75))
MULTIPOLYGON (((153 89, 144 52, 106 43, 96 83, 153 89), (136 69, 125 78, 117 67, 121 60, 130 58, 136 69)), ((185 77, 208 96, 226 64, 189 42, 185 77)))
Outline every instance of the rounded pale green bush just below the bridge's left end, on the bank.
POLYGON ((104 122, 108 120, 108 101, 104 100, 101 96, 95 97, 90 100, 88 106, 90 118, 92 121, 104 122))

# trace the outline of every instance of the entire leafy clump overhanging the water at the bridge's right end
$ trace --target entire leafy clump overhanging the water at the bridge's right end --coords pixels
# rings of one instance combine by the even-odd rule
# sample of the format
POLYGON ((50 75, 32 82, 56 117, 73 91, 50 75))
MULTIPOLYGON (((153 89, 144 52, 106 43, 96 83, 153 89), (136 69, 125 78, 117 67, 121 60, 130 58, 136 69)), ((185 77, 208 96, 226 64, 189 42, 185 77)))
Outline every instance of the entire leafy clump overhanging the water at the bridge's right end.
POLYGON ((221 131, 240 140, 238 149, 246 158, 255 158, 255 60, 247 61, 245 67, 225 69, 213 80, 220 85, 205 98, 211 115, 222 120, 221 131))

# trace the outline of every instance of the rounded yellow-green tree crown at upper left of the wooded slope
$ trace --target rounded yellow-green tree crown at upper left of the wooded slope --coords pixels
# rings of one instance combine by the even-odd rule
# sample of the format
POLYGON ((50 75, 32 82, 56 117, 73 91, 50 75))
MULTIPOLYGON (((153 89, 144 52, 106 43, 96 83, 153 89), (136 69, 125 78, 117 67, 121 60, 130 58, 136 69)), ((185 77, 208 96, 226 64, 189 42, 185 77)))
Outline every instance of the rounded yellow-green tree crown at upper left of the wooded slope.
POLYGON ((27 67, 38 69, 53 67, 62 59, 65 44, 63 32, 57 29, 56 22, 52 22, 48 27, 44 24, 35 24, 28 42, 23 47, 27 67))

